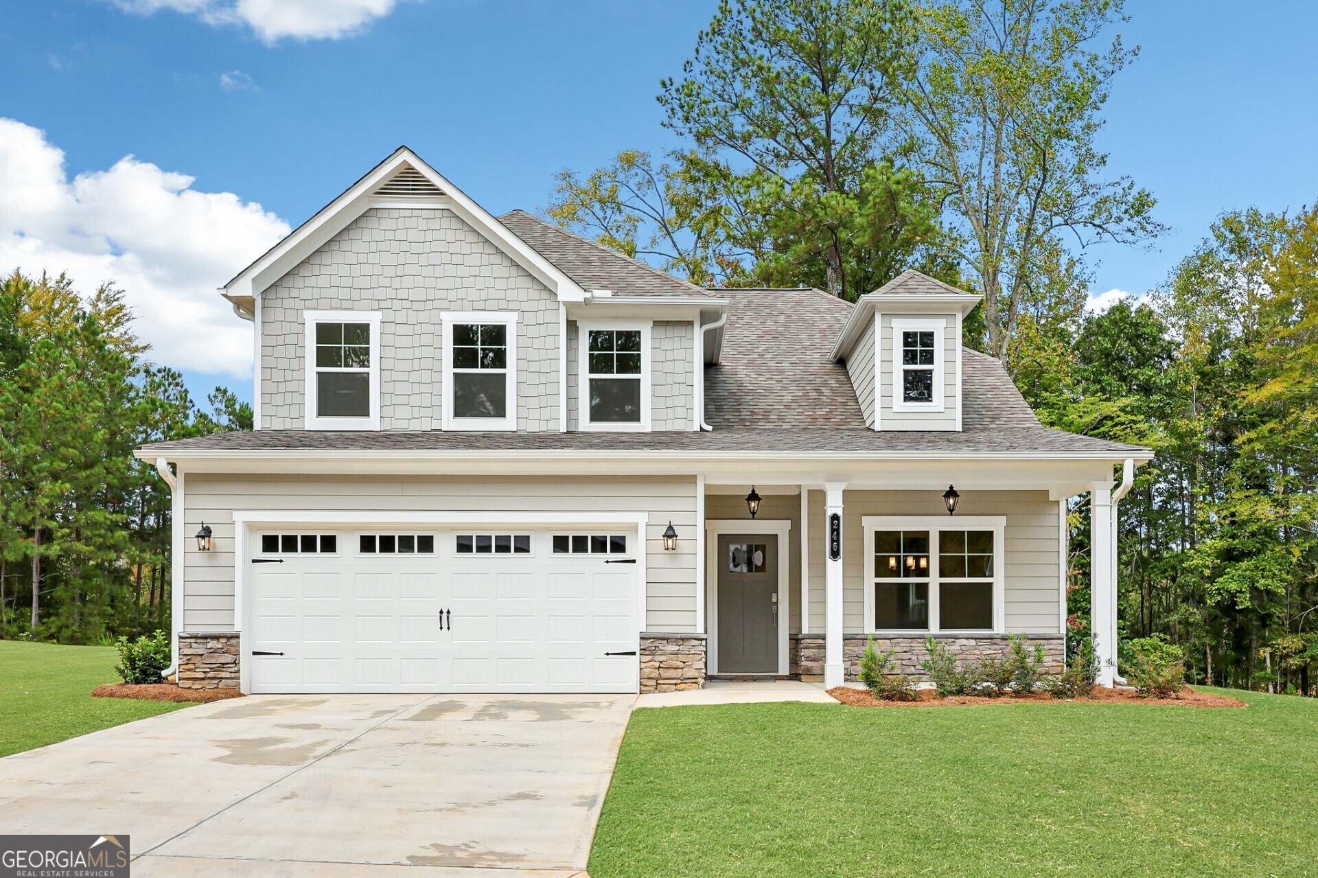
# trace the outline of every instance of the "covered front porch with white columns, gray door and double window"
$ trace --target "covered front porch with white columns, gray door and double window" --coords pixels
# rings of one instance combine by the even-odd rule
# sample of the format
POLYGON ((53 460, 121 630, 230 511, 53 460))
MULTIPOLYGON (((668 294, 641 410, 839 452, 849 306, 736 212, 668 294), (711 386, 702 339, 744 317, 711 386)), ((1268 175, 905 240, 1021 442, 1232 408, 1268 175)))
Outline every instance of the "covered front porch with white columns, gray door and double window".
POLYGON ((1058 672, 1066 649, 1068 501, 1082 492, 1090 496, 1099 682, 1111 686, 1115 509, 1123 490, 1114 492, 1115 480, 1040 475, 999 471, 970 480, 961 472, 950 514, 946 483, 941 489, 766 484, 755 486, 758 502, 747 500, 750 484, 699 485, 696 630, 642 635, 641 691, 693 689, 720 679, 832 688, 858 679, 871 638, 894 653, 902 674, 917 679, 929 638, 971 662, 1002 655, 1008 635, 1024 635, 1044 649, 1049 672, 1058 672))

